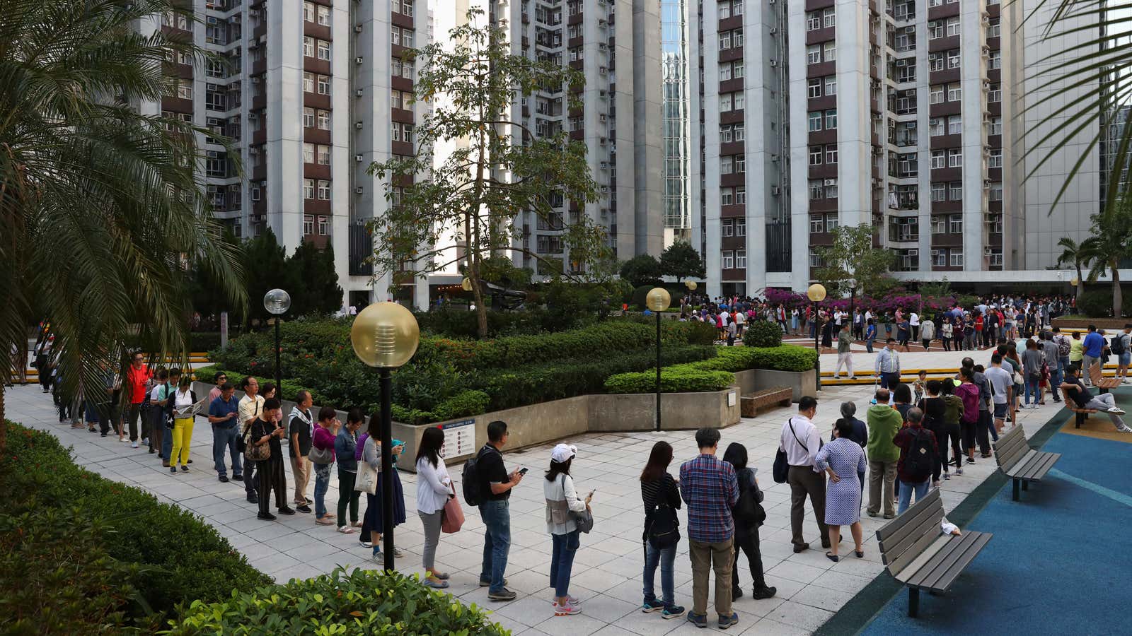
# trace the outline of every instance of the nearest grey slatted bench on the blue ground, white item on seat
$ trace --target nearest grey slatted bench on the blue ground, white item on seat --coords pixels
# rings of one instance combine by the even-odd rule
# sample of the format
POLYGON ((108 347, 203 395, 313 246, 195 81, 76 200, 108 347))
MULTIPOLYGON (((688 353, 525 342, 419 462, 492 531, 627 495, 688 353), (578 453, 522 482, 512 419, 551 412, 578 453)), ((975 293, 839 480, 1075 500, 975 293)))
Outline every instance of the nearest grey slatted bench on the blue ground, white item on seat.
POLYGON ((935 488, 923 500, 876 531, 881 559, 892 577, 908 586, 908 616, 919 611, 919 591, 946 592, 976 555, 989 532, 941 534, 943 500, 935 488))

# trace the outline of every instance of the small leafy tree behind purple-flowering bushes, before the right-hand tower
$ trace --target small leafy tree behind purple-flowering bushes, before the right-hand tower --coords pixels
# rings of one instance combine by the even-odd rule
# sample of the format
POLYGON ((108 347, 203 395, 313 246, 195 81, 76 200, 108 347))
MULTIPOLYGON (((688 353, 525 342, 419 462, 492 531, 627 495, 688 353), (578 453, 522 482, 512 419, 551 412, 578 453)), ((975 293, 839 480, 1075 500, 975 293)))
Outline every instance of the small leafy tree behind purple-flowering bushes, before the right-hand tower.
POLYGON ((833 244, 815 251, 822 266, 814 270, 814 278, 834 298, 850 289, 863 294, 885 287, 884 278, 895 260, 892 250, 873 247, 873 226, 868 223, 837 227, 833 244))

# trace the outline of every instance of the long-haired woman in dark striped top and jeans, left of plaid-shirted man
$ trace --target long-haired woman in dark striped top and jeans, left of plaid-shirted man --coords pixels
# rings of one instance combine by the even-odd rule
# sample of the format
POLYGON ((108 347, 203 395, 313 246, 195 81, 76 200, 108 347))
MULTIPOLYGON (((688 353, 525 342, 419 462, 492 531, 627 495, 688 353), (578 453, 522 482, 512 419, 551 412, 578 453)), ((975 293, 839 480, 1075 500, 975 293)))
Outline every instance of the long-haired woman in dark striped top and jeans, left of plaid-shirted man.
POLYGON ((649 462, 641 471, 641 499, 644 502, 644 602, 642 612, 660 611, 661 618, 670 619, 684 614, 684 608, 676 604, 674 564, 679 545, 680 489, 668 473, 672 462, 672 446, 667 441, 652 445, 649 462), (662 536, 661 533, 667 534, 662 536), (661 599, 657 599, 654 582, 657 566, 660 566, 661 599))

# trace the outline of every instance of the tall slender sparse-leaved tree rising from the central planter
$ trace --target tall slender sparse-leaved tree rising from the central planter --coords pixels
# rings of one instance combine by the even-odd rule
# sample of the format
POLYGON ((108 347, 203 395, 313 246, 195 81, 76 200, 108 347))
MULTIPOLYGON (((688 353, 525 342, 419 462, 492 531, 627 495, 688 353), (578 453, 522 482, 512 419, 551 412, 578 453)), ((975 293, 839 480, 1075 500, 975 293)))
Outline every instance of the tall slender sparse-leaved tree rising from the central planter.
MULTIPOLYGON (((588 215, 563 218, 565 201, 584 205, 597 196, 585 144, 564 130, 537 132, 516 112, 517 102, 548 88, 565 91, 567 108, 581 109, 581 93, 572 91, 581 74, 512 54, 509 38, 484 18, 470 10, 447 38, 409 52, 423 61, 415 98, 432 110, 415 127, 412 156, 370 166, 385 180, 387 200, 401 189, 397 205, 370 223, 378 274, 410 264, 423 276, 463 261, 465 275, 479 281, 483 260, 507 251, 550 265, 515 240, 535 218, 563 229, 561 255, 574 269, 609 249, 604 230, 588 215), (451 152, 437 156, 439 147, 451 152)), ((480 285, 472 293, 483 337, 487 304, 480 285)))

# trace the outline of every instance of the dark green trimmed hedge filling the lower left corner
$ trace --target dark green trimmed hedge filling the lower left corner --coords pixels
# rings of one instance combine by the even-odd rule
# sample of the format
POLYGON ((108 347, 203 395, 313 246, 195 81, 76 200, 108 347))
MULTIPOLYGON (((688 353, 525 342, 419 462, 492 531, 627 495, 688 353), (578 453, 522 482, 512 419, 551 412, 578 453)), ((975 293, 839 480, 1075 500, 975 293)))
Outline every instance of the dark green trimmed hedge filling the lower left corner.
POLYGON ((0 483, 18 493, 0 531, 22 528, 0 542, 0 559, 34 564, 0 567, 0 633, 149 631, 180 604, 271 583, 199 517, 77 466, 48 432, 8 423, 0 483), (32 603, 35 585, 48 592, 32 603))

